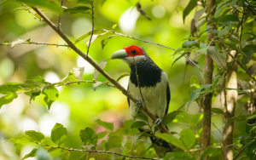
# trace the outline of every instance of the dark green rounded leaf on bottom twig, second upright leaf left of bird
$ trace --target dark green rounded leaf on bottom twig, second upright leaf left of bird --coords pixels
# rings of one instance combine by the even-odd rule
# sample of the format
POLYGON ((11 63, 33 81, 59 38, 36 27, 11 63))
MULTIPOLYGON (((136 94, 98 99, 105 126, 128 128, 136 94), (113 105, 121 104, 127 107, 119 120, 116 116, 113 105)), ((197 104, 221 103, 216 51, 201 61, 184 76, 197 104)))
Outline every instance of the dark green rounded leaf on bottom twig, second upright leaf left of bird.
POLYGON ((84 143, 89 142, 94 146, 97 146, 97 134, 96 131, 90 128, 85 128, 80 130, 80 138, 84 143))

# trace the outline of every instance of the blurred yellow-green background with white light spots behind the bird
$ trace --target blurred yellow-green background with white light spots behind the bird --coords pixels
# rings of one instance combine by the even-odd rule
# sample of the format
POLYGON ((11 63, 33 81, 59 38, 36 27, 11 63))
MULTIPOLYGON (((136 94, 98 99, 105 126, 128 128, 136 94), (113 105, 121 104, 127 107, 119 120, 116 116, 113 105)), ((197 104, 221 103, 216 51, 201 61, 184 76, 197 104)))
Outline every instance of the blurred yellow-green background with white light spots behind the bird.
MULTIPOLYGON (((115 29, 117 32, 160 43, 173 49, 181 47, 183 43, 181 40, 189 37, 190 22, 194 17, 195 9, 183 24, 183 9, 189 3, 188 0, 141 0, 142 9, 152 20, 148 20, 139 14, 136 8, 131 11, 136 3, 137 0, 107 0, 102 5, 95 0, 95 29, 111 30, 114 24, 118 24, 115 29)), ((65 1, 63 5, 70 8, 77 4, 65 1)), ((0 14, 8 9, 21 7, 20 4, 9 1, 0 6, 0 14)), ((44 14, 57 24, 57 14, 47 11, 44 11, 44 14)), ((201 28, 204 30, 205 26, 201 28)), ((89 14, 63 14, 61 16, 61 31, 73 42, 90 30, 91 19, 89 14)), ((193 66, 187 66, 183 83, 186 60, 182 58, 172 66, 178 55, 173 57, 174 52, 171 49, 127 37, 113 37, 109 40, 107 46, 102 49, 101 41, 109 35, 98 37, 92 43, 90 57, 96 62, 100 62, 110 58, 114 51, 126 46, 135 44, 143 47, 151 59, 169 76, 172 93, 169 111, 177 110, 184 102, 189 100, 189 94, 195 89, 189 84, 192 76, 197 77, 200 84, 202 84, 201 71, 193 66), (182 86, 183 92, 181 93, 182 86)), ((13 42, 27 38, 31 38, 31 42, 38 43, 64 43, 55 31, 44 22, 34 19, 32 14, 27 11, 20 10, 0 15, 0 42, 3 43, 5 40, 13 42)), ((86 52, 85 43, 88 41, 89 37, 77 44, 77 47, 84 53, 86 52)), ((203 68, 204 55, 192 54, 191 59, 194 59, 194 57, 195 60, 199 61, 198 66, 203 68)), ((71 49, 34 44, 19 44, 14 49, 9 46, 0 47, 0 84, 8 82, 24 83, 26 78, 36 76, 44 77, 49 83, 57 83, 69 71, 72 71, 73 67, 82 66, 85 66, 82 79, 92 80, 94 68, 71 49)), ((129 67, 121 60, 108 60, 104 70, 115 79, 124 73, 130 72, 129 67)), ((74 77, 69 79, 76 80, 74 77)), ((129 77, 124 77, 119 83, 126 88, 128 79, 129 77)), ((102 75, 98 80, 107 81, 102 75)), ((94 122, 96 118, 113 123, 114 129, 122 127, 124 121, 130 119, 125 95, 121 94, 118 89, 104 85, 96 91, 91 86, 91 83, 76 83, 59 87, 59 99, 53 103, 49 111, 43 100, 44 95, 38 96, 35 101, 30 103, 28 96, 19 94, 19 97, 12 103, 3 106, 0 110, 0 159, 21 159, 32 150, 33 146, 14 146, 11 142, 4 143, 9 138, 24 137, 26 130, 36 130, 50 136, 55 123, 62 123, 67 128, 68 133, 64 146, 80 148, 82 145, 79 140, 80 129, 90 127, 96 129, 97 133, 104 130, 94 122)), ((213 107, 221 108, 222 102, 219 97, 220 95, 217 96, 213 107)), ((241 111, 241 108, 238 106, 237 110, 241 111)), ((197 130, 201 129, 201 123, 196 126, 193 123, 191 124, 192 117, 201 117, 201 109, 195 102, 189 108, 187 108, 187 105, 183 106, 181 111, 183 113, 168 125, 171 131, 179 133, 182 129, 191 128, 193 125, 194 127, 197 126, 197 130)), ((221 115, 214 114, 212 122, 216 124, 218 129, 222 129, 221 115)), ((235 134, 245 134, 242 132, 244 130, 242 128, 243 123, 236 124, 235 134), (239 126, 241 126, 241 129, 239 126)), ((221 140, 218 129, 212 126, 214 143, 219 143, 221 140)), ((178 137, 178 134, 176 136, 178 137)), ((197 137, 199 137, 198 134, 197 137)), ((197 143, 197 146, 199 144, 197 143)), ((58 152, 52 154, 54 157, 59 155, 58 152)), ((80 155, 80 153, 72 152, 70 159, 80 155)))

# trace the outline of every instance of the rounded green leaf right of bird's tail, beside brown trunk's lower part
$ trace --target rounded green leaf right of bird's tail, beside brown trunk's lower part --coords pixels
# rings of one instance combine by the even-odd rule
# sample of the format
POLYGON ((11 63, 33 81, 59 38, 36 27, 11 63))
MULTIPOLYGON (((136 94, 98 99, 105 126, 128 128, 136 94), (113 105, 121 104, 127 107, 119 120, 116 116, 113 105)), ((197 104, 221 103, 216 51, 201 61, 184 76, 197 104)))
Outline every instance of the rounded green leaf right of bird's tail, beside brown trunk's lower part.
POLYGON ((188 149, 195 145, 195 133, 191 129, 183 129, 179 135, 179 140, 182 140, 188 149))

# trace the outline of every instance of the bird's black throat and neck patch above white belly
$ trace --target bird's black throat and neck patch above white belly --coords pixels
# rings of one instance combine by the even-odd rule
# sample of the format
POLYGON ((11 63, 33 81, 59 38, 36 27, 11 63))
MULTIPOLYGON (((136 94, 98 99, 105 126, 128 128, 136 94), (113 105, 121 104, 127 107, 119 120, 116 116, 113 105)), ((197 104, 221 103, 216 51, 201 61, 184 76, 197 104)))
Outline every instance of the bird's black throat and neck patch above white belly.
POLYGON ((143 60, 137 62, 136 66, 131 64, 130 67, 130 80, 136 87, 138 87, 137 75, 139 86, 142 88, 155 87, 156 83, 160 83, 161 81, 162 70, 154 64, 153 60, 143 60))

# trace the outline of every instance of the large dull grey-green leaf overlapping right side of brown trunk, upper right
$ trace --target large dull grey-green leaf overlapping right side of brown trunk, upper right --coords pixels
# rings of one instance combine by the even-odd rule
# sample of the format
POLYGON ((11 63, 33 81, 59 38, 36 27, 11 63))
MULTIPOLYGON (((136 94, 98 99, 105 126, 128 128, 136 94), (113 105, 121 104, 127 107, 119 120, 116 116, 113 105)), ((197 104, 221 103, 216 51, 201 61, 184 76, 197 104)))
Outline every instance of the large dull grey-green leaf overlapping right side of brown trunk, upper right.
POLYGON ((212 57, 212 60, 215 61, 218 66, 223 67, 224 69, 226 68, 227 62, 225 57, 223 54, 219 54, 218 49, 215 46, 209 47, 208 54, 212 57))

